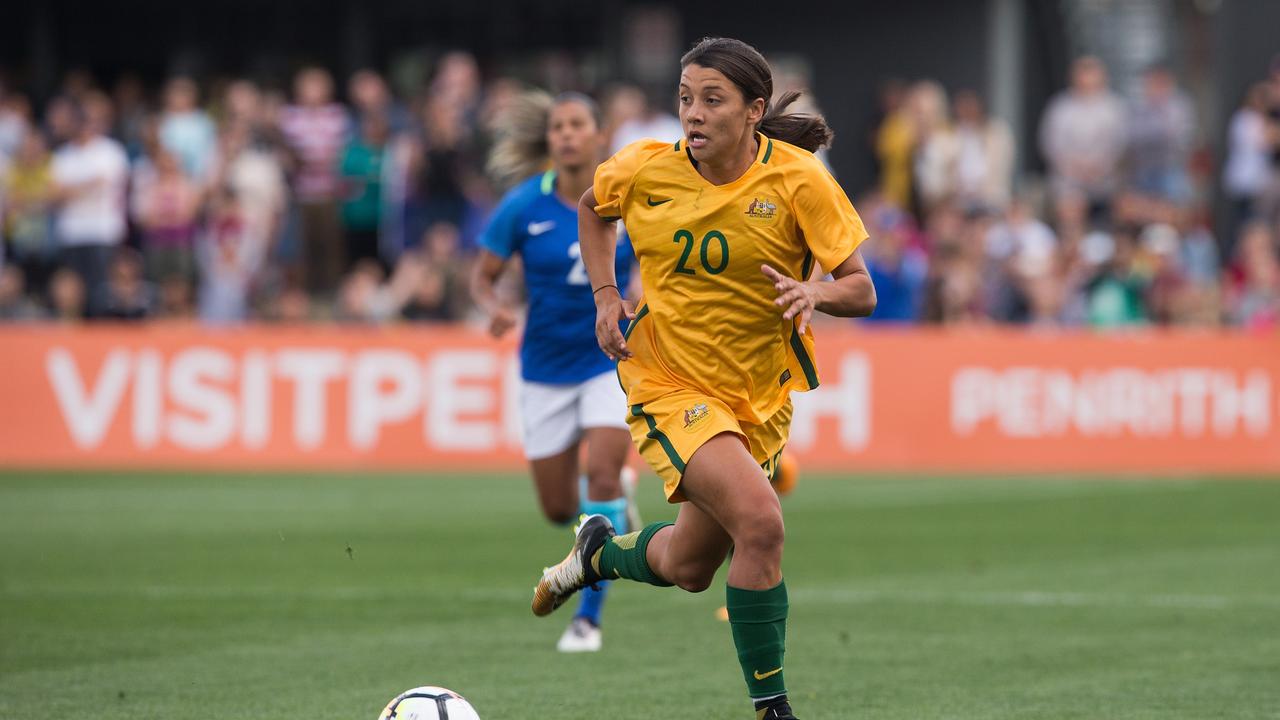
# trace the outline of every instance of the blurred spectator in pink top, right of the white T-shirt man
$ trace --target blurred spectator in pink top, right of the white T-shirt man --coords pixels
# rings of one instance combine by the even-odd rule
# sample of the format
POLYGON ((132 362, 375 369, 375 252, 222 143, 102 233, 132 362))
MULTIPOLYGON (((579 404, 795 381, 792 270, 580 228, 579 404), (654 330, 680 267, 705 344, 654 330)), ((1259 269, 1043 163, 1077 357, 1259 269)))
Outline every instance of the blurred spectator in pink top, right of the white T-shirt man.
POLYGON ((133 218, 142 229, 147 278, 163 283, 195 275, 192 243, 201 192, 183 172, 178 156, 155 147, 152 161, 134 176, 133 218))

